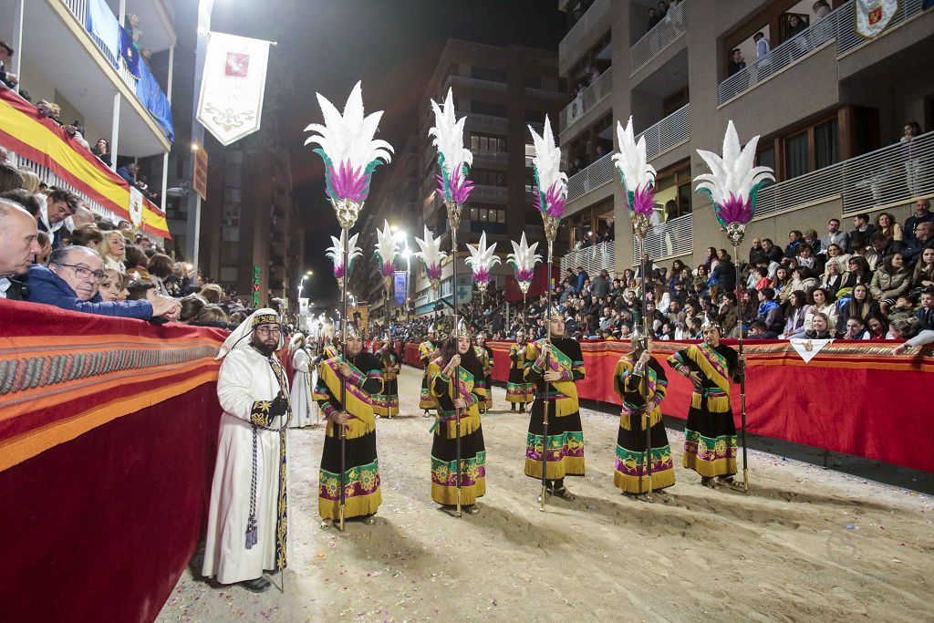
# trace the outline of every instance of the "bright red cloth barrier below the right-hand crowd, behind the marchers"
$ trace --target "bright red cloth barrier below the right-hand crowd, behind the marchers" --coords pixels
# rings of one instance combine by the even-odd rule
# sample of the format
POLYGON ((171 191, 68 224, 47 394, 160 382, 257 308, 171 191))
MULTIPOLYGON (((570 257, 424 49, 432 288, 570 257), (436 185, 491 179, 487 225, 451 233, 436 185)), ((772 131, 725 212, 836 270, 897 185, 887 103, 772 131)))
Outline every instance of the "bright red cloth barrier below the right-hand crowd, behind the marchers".
MULTIPOLYGON (((726 344, 735 347, 735 340, 726 344)), ((490 342, 493 379, 509 375, 511 342, 490 342)), ((669 376, 665 415, 687 417, 690 383, 673 374, 667 359, 686 342, 655 342, 655 357, 669 376)), ((785 341, 748 341, 747 431, 834 452, 934 471, 934 381, 930 350, 895 357, 896 342, 838 340, 805 363, 785 341)), ((406 354, 408 353, 407 345, 406 354)), ((616 361, 630 350, 624 342, 584 342, 586 377, 581 398, 619 404, 613 391, 616 361)), ((407 360, 406 360, 407 361, 407 360)), ((740 424, 740 391, 733 388, 740 424)))

